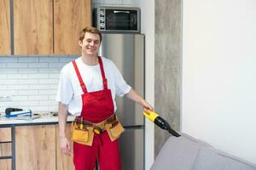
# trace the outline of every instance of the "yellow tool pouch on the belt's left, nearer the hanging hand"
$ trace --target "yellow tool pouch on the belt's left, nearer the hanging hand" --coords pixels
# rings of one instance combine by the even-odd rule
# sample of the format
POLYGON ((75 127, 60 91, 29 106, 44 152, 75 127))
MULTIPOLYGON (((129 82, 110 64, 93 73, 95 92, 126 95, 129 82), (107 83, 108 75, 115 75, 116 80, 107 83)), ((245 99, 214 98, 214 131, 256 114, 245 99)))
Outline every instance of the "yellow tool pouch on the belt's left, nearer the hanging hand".
POLYGON ((73 122, 73 135, 72 140, 79 144, 92 145, 93 141, 93 127, 81 127, 73 122))

